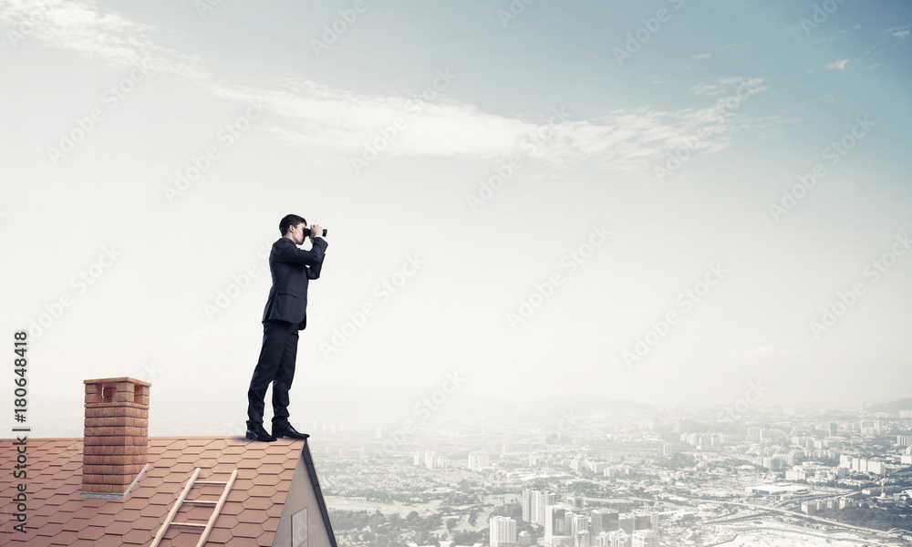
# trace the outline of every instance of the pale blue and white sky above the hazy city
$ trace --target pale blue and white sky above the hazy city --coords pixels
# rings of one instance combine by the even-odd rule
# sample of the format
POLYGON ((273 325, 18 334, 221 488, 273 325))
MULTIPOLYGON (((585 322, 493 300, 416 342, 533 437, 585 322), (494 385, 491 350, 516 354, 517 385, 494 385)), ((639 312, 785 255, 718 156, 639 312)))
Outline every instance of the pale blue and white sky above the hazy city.
POLYGON ((0 332, 38 426, 130 376, 240 427, 292 212, 329 243, 293 418, 448 374, 912 395, 908 3, 0 5, 0 332))

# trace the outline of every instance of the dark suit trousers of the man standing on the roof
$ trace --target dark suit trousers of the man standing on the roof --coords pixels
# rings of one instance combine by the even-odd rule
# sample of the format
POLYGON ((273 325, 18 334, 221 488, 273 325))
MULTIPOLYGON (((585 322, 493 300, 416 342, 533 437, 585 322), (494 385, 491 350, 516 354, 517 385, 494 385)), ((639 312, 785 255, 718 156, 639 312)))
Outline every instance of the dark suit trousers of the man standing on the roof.
POLYGON ((294 323, 270 319, 263 323, 263 347, 247 389, 247 427, 263 423, 266 388, 273 385, 273 428, 288 424, 288 391, 295 379, 298 331, 294 323))

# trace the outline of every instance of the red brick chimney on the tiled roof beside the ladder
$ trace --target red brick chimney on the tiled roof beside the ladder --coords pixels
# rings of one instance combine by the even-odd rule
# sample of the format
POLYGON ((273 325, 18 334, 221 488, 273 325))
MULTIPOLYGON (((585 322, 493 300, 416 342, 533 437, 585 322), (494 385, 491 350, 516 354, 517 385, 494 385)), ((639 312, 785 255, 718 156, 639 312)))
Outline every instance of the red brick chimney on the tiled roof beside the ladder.
POLYGON ((82 495, 123 498, 149 462, 149 382, 84 380, 82 495))

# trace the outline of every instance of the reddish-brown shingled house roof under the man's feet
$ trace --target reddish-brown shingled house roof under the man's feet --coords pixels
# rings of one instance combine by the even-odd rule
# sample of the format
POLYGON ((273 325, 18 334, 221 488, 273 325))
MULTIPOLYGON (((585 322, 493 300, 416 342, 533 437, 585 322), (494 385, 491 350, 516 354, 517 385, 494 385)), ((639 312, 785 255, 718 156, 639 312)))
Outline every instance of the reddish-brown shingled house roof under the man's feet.
MULTIPOLYGON (((290 543, 293 533, 303 533, 306 538, 309 529, 310 547, 337 547, 306 441, 150 438, 149 466, 123 500, 80 495, 82 449, 82 439, 27 439, 27 476, 16 478, 12 472, 16 448, 3 441, 0 469, 6 471, 0 473, 0 491, 4 492, 0 543, 27 543, 30 547, 150 545, 192 473, 201 468, 198 480, 211 481, 228 480, 237 470, 206 545, 290 543), (26 483, 26 533, 13 529, 16 502, 12 499, 19 483, 26 483), (303 531, 302 515, 308 524, 303 531), (276 533, 280 523, 282 529, 276 533), (317 537, 319 529, 326 533, 317 537)), ((215 485, 197 486, 187 499, 217 501, 222 491, 223 487, 215 485)), ((205 523, 211 514, 212 506, 183 505, 174 521, 205 523)), ((200 535, 198 530, 171 526, 161 546, 195 546, 200 535)))

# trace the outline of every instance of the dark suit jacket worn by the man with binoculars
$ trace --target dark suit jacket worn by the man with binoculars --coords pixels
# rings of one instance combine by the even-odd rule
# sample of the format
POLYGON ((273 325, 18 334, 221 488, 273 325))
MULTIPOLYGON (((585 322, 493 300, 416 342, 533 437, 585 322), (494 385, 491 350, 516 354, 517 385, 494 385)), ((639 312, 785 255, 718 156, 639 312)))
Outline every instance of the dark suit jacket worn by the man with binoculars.
POLYGON ((307 326, 307 284, 320 277, 326 240, 314 238, 314 247, 304 251, 286 237, 273 243, 269 252, 269 273, 273 275, 273 286, 263 310, 263 322, 281 319, 298 325, 298 330, 307 326))

